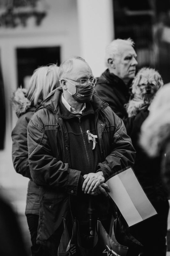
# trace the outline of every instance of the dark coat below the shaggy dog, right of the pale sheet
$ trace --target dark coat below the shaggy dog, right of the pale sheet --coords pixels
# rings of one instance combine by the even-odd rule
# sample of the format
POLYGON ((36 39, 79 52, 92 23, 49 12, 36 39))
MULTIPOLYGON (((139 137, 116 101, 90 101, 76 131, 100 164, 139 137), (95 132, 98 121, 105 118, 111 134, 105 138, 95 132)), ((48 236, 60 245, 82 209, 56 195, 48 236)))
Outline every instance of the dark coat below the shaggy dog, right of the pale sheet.
POLYGON ((146 155, 144 150, 139 145, 139 135, 141 125, 147 118, 149 111, 147 109, 140 111, 136 116, 131 116, 123 120, 127 134, 132 140, 132 144, 136 150, 136 158, 133 169, 140 181, 144 191, 153 203, 158 203, 161 200, 166 200, 166 191, 162 185, 160 176, 160 157, 152 157, 146 155))

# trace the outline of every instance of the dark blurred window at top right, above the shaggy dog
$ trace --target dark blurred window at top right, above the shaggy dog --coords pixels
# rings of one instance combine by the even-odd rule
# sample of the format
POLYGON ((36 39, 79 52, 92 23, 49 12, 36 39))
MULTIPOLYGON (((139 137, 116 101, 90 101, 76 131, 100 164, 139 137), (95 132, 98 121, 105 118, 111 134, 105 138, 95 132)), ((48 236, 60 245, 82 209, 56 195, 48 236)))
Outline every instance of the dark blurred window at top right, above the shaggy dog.
POLYGON ((170 82, 170 1, 113 0, 113 6, 115 38, 133 39, 138 69, 156 68, 170 82))

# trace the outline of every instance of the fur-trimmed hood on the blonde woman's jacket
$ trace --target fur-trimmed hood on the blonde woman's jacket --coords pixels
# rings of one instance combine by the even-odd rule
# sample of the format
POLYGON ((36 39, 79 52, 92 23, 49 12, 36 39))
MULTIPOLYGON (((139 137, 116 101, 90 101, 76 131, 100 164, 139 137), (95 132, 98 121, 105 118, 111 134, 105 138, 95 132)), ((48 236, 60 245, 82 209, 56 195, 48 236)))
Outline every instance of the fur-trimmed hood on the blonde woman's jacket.
POLYGON ((11 98, 12 105, 15 109, 16 115, 19 117, 26 113, 27 109, 31 107, 31 101, 26 97, 27 90, 18 88, 11 98))

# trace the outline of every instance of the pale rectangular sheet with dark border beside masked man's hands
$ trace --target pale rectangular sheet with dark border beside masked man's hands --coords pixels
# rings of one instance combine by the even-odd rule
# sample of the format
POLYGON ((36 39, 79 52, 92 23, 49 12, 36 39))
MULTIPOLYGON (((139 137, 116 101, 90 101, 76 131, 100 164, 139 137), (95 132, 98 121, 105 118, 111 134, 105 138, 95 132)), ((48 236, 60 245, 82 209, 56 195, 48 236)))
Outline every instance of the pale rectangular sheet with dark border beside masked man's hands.
POLYGON ((129 227, 157 214, 131 167, 113 174, 106 184, 129 227))

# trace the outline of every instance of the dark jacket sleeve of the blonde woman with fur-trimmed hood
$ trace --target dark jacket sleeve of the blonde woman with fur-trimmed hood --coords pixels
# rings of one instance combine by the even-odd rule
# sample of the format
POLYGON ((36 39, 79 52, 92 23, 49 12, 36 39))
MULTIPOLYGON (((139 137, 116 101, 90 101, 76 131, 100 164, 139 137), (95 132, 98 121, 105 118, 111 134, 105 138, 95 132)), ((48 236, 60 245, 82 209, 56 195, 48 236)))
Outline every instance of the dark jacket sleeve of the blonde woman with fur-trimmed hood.
POLYGON ((27 125, 29 118, 21 116, 12 130, 12 161, 15 171, 31 179, 28 164, 27 125))

